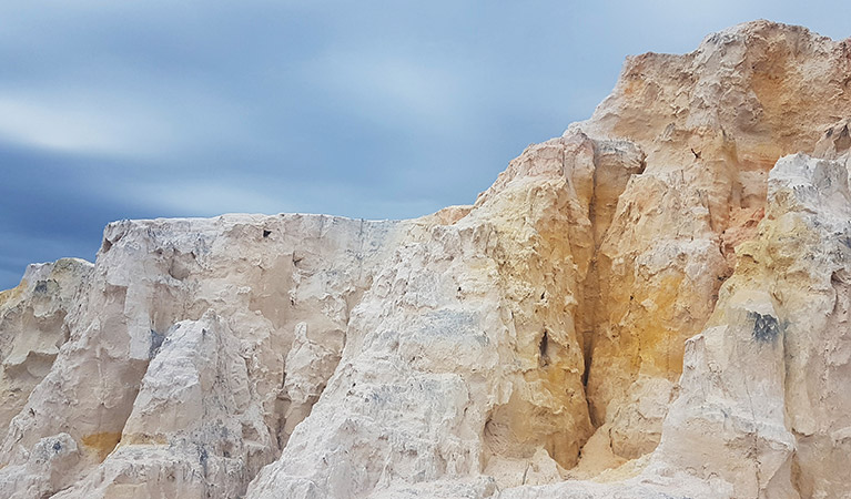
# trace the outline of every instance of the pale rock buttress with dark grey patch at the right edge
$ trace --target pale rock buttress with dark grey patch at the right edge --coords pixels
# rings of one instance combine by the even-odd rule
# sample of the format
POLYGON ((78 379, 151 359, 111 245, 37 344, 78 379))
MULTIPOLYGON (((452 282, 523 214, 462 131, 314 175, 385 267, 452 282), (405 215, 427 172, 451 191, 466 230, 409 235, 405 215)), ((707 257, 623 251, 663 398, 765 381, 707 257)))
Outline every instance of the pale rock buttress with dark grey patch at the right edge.
POLYGON ((738 497, 842 497, 849 478, 839 464, 851 456, 842 394, 851 383, 848 170, 788 156, 768 189, 759 237, 740 246, 707 328, 687 344, 683 393, 657 455, 712 469, 738 497))

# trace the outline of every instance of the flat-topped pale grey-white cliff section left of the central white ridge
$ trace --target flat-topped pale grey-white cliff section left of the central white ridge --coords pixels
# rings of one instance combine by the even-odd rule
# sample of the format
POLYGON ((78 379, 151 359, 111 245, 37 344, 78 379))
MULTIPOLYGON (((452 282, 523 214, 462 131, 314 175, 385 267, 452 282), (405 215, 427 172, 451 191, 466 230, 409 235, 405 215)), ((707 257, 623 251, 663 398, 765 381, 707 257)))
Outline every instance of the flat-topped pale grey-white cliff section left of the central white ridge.
POLYGON ((67 342, 9 426, 0 496, 244 495, 332 375, 349 308, 398 225, 304 215, 111 224, 67 342), (286 383, 284 359, 305 343, 323 361, 286 383), (73 450, 32 451, 55 436, 73 450))

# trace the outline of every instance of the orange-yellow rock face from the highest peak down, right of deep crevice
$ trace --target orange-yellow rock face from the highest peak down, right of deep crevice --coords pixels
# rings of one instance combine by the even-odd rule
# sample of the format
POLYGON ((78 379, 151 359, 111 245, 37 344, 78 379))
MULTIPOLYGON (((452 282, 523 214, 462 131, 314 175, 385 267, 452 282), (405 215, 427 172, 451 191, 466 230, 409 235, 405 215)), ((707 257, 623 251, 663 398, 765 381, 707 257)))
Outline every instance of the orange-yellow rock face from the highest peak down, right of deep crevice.
MULTIPOLYGON (((570 126, 647 154, 597 254, 600 297, 587 326, 592 416, 612 422, 622 456, 652 450, 636 442, 661 419, 620 400, 646 398, 646 375, 677 380, 683 342, 702 329, 735 246, 763 216, 769 170, 813 152, 828 130, 842 141, 833 125, 851 110, 850 74, 849 41, 757 21, 686 55, 628 59, 594 116, 570 126), (612 401, 620 414, 607 410, 612 401)), ((656 391, 667 405, 670 390, 656 391)))

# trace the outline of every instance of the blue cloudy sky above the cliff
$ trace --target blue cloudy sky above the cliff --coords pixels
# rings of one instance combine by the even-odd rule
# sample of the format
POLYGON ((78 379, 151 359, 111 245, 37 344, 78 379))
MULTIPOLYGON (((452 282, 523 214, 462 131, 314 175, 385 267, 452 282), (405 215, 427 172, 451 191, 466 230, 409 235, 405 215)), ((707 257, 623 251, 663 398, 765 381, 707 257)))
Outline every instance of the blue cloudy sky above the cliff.
POLYGON ((0 3, 0 289, 113 220, 407 218, 469 204, 590 116, 624 59, 851 2, 0 3))

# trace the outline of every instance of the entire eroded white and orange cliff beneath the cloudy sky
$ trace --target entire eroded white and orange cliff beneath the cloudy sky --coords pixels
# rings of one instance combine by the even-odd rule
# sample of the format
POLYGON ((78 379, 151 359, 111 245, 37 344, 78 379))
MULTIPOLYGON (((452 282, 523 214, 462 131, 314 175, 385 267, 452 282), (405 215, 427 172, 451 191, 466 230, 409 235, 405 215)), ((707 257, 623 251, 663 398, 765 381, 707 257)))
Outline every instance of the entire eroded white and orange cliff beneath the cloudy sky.
POLYGON ((0 496, 844 497, 849 120, 757 21, 473 206, 110 224, 0 294, 0 496))

